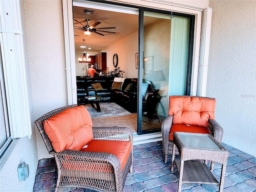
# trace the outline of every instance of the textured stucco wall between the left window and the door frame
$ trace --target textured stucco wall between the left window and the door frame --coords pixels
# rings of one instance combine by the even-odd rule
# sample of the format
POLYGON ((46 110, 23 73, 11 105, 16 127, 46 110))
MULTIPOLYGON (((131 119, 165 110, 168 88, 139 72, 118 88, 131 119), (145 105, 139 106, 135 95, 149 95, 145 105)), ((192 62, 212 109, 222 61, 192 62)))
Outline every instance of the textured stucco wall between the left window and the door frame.
MULTIPOLYGON (((24 1, 34 120, 65 106, 66 78, 61 0, 24 1)), ((38 158, 48 158, 38 129, 38 158)))

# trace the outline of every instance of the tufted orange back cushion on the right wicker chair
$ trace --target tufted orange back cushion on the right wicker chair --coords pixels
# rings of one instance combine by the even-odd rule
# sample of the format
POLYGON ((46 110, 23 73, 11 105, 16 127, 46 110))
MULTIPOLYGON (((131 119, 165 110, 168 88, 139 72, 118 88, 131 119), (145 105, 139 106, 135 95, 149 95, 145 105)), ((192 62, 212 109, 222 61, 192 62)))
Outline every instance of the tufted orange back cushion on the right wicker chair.
POLYGON ((208 127, 208 119, 214 119, 216 100, 212 98, 170 96, 168 115, 174 124, 208 127))

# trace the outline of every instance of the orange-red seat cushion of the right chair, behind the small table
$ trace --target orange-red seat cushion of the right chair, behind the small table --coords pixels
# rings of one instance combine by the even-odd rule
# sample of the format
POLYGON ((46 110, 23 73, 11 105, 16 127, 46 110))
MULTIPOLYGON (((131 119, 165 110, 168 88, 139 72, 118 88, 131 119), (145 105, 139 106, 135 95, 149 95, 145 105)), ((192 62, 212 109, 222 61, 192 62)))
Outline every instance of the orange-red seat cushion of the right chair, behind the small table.
POLYGON ((182 124, 172 124, 170 134, 169 134, 169 140, 173 140, 173 133, 174 132, 189 132, 189 133, 204 133, 204 134, 210 134, 208 128, 204 127, 198 127, 198 126, 188 126, 188 125, 182 125, 182 124))

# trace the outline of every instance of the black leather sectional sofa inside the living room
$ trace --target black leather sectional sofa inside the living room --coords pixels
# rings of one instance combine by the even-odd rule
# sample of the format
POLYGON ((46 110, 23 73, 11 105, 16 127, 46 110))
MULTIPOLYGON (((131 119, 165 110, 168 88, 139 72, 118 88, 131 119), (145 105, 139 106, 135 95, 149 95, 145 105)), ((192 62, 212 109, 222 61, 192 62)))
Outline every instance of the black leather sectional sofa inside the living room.
MULTIPOLYGON (((130 112, 137 111, 137 78, 125 78, 122 86, 113 89, 114 78, 106 76, 101 77, 76 77, 77 84, 77 102, 78 105, 86 104, 86 96, 101 96, 100 102, 115 102, 130 112), (95 84, 100 84, 101 88, 95 89, 95 84)), ((158 90, 156 90, 158 92, 158 90)), ((146 100, 148 95, 152 95, 151 82, 142 83, 142 109, 146 109, 146 100)), ((155 95, 155 94, 154 94, 155 95)), ((148 103, 151 106, 150 103, 148 103)))

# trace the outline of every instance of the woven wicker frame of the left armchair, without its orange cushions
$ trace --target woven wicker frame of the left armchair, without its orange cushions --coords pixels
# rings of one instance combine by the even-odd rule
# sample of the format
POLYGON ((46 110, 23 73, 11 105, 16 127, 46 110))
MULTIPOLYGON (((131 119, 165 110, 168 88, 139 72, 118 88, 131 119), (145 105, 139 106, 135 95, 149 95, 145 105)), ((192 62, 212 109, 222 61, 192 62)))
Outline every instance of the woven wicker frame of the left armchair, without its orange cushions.
POLYGON ((94 141, 130 141, 131 150, 123 170, 121 170, 120 160, 110 153, 76 150, 56 152, 54 150, 44 130, 43 122, 63 110, 76 106, 70 105, 52 110, 35 121, 49 154, 52 154, 56 160, 58 179, 55 191, 57 192, 58 188, 62 187, 76 187, 96 191, 122 192, 126 176, 129 171, 132 172, 133 135, 130 129, 125 127, 92 127, 94 141))

